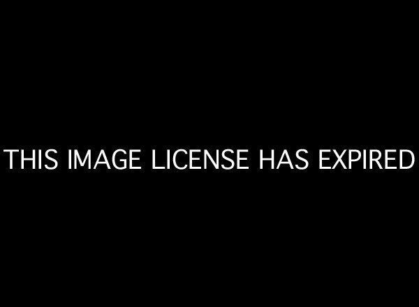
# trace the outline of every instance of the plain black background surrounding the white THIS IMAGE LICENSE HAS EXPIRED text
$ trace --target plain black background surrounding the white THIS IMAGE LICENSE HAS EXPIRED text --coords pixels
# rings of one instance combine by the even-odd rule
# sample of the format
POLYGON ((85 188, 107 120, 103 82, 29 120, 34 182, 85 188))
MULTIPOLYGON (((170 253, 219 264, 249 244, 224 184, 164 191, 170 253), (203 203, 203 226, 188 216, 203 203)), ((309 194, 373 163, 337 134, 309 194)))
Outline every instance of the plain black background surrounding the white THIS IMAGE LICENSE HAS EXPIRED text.
POLYGON ((2 160, 8 289, 117 301, 409 292, 417 165, 321 172, 316 153, 417 156, 414 20, 173 9, 20 8, 2 38, 1 149, 248 148, 252 170, 8 172, 2 160), (309 170, 257 170, 258 149, 300 148, 309 170))

